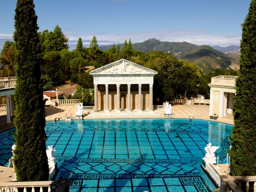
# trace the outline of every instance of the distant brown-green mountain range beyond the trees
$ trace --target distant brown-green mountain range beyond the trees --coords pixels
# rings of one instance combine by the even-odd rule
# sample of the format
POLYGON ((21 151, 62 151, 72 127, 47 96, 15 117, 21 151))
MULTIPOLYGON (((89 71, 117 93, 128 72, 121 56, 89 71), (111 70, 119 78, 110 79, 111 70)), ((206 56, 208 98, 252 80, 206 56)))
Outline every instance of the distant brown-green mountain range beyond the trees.
MULTIPOLYGON (((120 48, 122 46, 123 44, 120 44, 120 48)), ((99 46, 102 50, 108 50, 110 47, 112 46, 99 46)), ((162 42, 152 38, 142 43, 134 43, 133 49, 144 53, 152 50, 170 53, 178 59, 194 61, 207 73, 213 72, 216 68, 239 69, 239 46, 196 46, 188 42, 162 42)))

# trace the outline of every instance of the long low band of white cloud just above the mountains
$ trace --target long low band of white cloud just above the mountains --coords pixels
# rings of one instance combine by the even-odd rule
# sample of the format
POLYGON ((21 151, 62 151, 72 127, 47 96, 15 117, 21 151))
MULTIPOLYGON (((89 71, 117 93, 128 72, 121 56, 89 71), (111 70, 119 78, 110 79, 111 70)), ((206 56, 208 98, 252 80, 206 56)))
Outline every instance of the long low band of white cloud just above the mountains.
POLYGON ((91 42, 93 36, 96 36, 98 43, 100 44, 113 44, 124 43, 125 40, 131 38, 132 43, 143 42, 150 38, 156 38, 160 41, 168 42, 189 42, 196 45, 239 45, 241 35, 209 35, 204 30, 175 30, 166 29, 159 31, 149 32, 135 32, 135 33, 123 33, 123 34, 66 34, 70 41, 77 41, 79 37, 82 38, 84 44, 91 42))

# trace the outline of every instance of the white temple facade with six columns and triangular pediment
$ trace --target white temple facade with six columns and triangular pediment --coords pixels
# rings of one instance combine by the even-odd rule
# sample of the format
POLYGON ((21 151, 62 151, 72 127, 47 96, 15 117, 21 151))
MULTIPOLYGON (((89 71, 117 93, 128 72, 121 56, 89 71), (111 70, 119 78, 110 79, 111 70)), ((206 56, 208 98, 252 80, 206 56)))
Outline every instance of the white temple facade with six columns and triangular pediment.
POLYGON ((95 112, 99 110, 149 110, 153 112, 153 82, 156 71, 118 60, 92 70, 95 112))

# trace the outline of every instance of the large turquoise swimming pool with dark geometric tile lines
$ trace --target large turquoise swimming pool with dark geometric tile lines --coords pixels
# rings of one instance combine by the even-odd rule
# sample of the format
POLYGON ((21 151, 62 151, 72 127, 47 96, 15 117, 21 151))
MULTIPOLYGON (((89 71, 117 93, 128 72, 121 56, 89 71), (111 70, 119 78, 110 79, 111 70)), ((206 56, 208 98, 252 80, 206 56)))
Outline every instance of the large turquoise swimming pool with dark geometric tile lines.
MULTIPOLYGON (((231 125, 188 119, 81 120, 46 122, 47 146, 56 149, 59 178, 70 191, 208 192, 216 189, 200 168, 209 142, 226 157, 231 125)), ((0 163, 14 142, 0 134, 0 163)))

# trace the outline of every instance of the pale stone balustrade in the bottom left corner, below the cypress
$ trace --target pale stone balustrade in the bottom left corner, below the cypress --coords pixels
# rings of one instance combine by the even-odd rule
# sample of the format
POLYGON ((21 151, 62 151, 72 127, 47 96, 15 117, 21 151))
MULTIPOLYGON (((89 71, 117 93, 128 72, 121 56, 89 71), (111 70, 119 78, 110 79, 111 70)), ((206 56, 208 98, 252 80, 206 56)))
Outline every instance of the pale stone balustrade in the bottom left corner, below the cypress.
POLYGON ((0 182, 1 192, 51 192, 55 187, 55 192, 69 192, 69 179, 58 181, 31 181, 31 182, 0 182))

